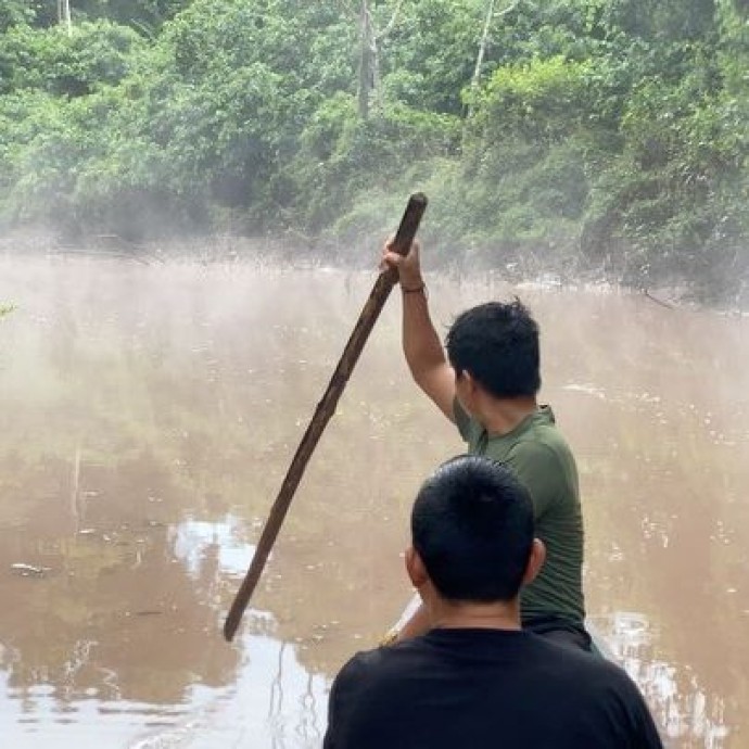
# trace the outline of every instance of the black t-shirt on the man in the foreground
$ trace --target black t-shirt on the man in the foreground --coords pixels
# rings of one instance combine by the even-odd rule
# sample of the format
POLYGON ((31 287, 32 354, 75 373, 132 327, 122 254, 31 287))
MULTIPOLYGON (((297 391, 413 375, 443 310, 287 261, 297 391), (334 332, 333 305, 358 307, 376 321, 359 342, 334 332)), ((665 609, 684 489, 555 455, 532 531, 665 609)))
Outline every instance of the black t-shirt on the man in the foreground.
POLYGON ((661 749, 637 687, 528 632, 433 630, 354 656, 325 749, 661 749))

